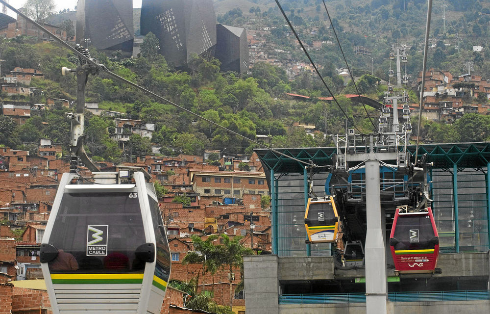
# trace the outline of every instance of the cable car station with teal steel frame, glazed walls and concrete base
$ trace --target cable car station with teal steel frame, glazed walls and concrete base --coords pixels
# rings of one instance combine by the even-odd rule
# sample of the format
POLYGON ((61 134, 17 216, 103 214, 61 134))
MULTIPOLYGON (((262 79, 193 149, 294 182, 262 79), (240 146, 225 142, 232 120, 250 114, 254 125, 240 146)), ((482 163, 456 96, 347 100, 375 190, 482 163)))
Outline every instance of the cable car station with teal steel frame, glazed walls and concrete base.
MULTIPOLYGON (((408 150, 413 162, 416 147, 409 145, 408 150)), ((313 191, 319 197, 345 191, 346 200, 355 200, 352 191, 359 188, 360 199, 340 202, 350 205, 339 210, 346 223, 343 229, 363 240, 368 214, 362 190, 365 178, 343 180, 321 167, 335 162, 335 147, 279 151, 319 166, 313 175, 313 191)), ((265 149, 255 152, 270 186, 272 255, 244 258, 247 313, 366 313, 364 266, 343 266, 341 252, 330 243, 305 243, 303 219, 310 174, 298 161, 265 149)), ((434 163, 428 179, 440 239, 436 267, 441 273, 395 275, 388 239, 392 214, 400 202, 394 201, 395 190, 381 189, 385 193, 381 207, 386 217, 388 313, 490 313, 490 143, 421 145, 418 155, 424 154, 434 163)), ((382 171, 381 178, 389 178, 390 172, 382 171)), ((415 186, 423 179, 404 180, 415 186)))

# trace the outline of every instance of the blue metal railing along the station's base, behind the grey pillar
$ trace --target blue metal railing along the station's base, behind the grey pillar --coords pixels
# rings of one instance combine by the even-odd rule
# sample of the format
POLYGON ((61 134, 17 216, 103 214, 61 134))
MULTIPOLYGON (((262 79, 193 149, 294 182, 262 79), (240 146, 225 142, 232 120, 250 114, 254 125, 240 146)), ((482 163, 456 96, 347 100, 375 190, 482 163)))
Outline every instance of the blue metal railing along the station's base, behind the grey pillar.
MULTIPOLYGON (((489 290, 389 292, 388 299, 392 302, 490 300, 490 292, 489 290)), ((366 295, 364 293, 283 294, 279 296, 279 304, 326 304, 365 302, 366 295)))

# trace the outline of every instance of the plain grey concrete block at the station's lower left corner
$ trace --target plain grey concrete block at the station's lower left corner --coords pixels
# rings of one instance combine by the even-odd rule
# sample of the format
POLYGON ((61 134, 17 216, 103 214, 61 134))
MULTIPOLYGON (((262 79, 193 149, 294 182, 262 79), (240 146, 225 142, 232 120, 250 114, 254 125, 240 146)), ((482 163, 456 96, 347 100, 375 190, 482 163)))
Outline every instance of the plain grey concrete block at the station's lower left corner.
POLYGON ((278 264, 276 255, 244 256, 247 314, 279 313, 278 264))

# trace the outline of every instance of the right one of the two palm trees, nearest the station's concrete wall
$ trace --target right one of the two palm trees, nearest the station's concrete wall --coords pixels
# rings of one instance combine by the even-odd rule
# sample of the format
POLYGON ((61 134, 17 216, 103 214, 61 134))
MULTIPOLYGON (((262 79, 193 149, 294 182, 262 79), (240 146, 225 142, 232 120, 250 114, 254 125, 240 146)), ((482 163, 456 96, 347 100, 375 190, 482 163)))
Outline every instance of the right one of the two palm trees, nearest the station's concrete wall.
POLYGON ((230 280, 230 308, 233 309, 233 297, 235 296, 235 291, 233 290, 233 272, 239 269, 240 273, 243 273, 243 257, 245 255, 252 255, 253 251, 240 242, 243 236, 235 236, 233 239, 230 239, 228 235, 221 234, 221 237, 223 238, 223 245, 219 246, 220 262, 222 267, 228 271, 228 278, 230 280))

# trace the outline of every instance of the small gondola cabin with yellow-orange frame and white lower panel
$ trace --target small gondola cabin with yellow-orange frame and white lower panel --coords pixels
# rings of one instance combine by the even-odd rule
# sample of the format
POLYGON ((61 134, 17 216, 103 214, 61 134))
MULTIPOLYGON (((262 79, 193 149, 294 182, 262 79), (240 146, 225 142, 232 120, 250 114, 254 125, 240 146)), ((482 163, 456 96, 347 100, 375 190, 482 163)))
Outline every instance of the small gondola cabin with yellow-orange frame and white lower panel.
POLYGON ((333 196, 308 199, 305 228, 311 243, 335 242, 339 231, 339 214, 333 196))

